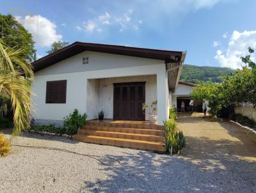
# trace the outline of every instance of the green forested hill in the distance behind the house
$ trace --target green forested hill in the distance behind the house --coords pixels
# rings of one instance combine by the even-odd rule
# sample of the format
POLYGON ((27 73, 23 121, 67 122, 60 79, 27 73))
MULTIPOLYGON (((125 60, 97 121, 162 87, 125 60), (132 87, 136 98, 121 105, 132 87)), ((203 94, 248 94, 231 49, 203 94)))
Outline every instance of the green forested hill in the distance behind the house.
POLYGON ((198 84, 200 82, 221 82, 221 77, 230 76, 234 70, 230 68, 184 65, 180 81, 198 84))

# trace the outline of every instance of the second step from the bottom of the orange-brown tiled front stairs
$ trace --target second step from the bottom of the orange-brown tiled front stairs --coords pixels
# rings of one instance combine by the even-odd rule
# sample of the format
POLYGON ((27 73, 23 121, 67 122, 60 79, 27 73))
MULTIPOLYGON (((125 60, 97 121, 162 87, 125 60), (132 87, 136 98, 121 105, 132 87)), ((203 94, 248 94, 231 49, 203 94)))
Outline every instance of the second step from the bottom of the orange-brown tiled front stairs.
POLYGON ((81 129, 79 130, 78 134, 96 135, 96 136, 102 136, 102 137, 115 137, 115 138, 123 138, 123 139, 136 139, 136 140, 142 140, 142 141, 156 141, 156 142, 162 142, 162 143, 164 141, 164 137, 159 135, 134 134, 134 133, 127 133, 127 132, 81 129))

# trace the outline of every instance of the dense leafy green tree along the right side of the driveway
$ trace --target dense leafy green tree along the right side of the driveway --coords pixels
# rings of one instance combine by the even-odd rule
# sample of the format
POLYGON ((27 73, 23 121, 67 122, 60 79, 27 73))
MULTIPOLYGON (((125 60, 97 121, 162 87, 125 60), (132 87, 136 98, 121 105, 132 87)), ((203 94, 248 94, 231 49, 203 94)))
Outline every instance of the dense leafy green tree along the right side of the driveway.
MULTIPOLYGON (((248 48, 252 54, 254 50, 248 48)), ((191 93, 195 100, 208 100, 212 116, 234 112, 237 102, 250 102, 256 106, 256 65, 250 54, 241 57, 245 64, 242 70, 236 70, 231 76, 223 77, 221 83, 208 83, 196 86, 191 93)))

